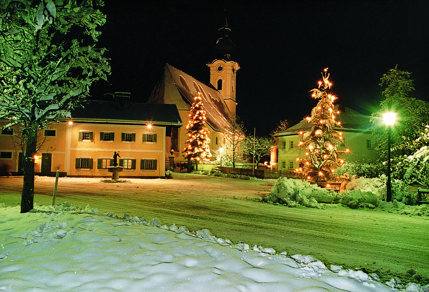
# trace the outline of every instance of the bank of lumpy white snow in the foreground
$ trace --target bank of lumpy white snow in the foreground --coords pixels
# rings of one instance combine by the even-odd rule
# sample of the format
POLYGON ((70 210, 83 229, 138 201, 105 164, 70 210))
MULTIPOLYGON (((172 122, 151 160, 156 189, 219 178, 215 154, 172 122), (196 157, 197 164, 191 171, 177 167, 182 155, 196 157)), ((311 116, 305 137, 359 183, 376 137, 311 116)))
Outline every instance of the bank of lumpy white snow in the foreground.
MULTIPOLYGON (((0 208, 0 289, 8 292, 393 291, 311 256, 231 245, 203 229, 57 206, 0 208), (66 211, 69 210, 70 211, 66 211), (56 213, 57 212, 57 213, 56 213), (171 229, 171 230, 167 230, 171 229)), ((124 215, 125 216, 125 215, 124 215)), ((376 278, 375 275, 372 275, 376 278)), ((407 291, 427 291, 408 284, 407 291)))

